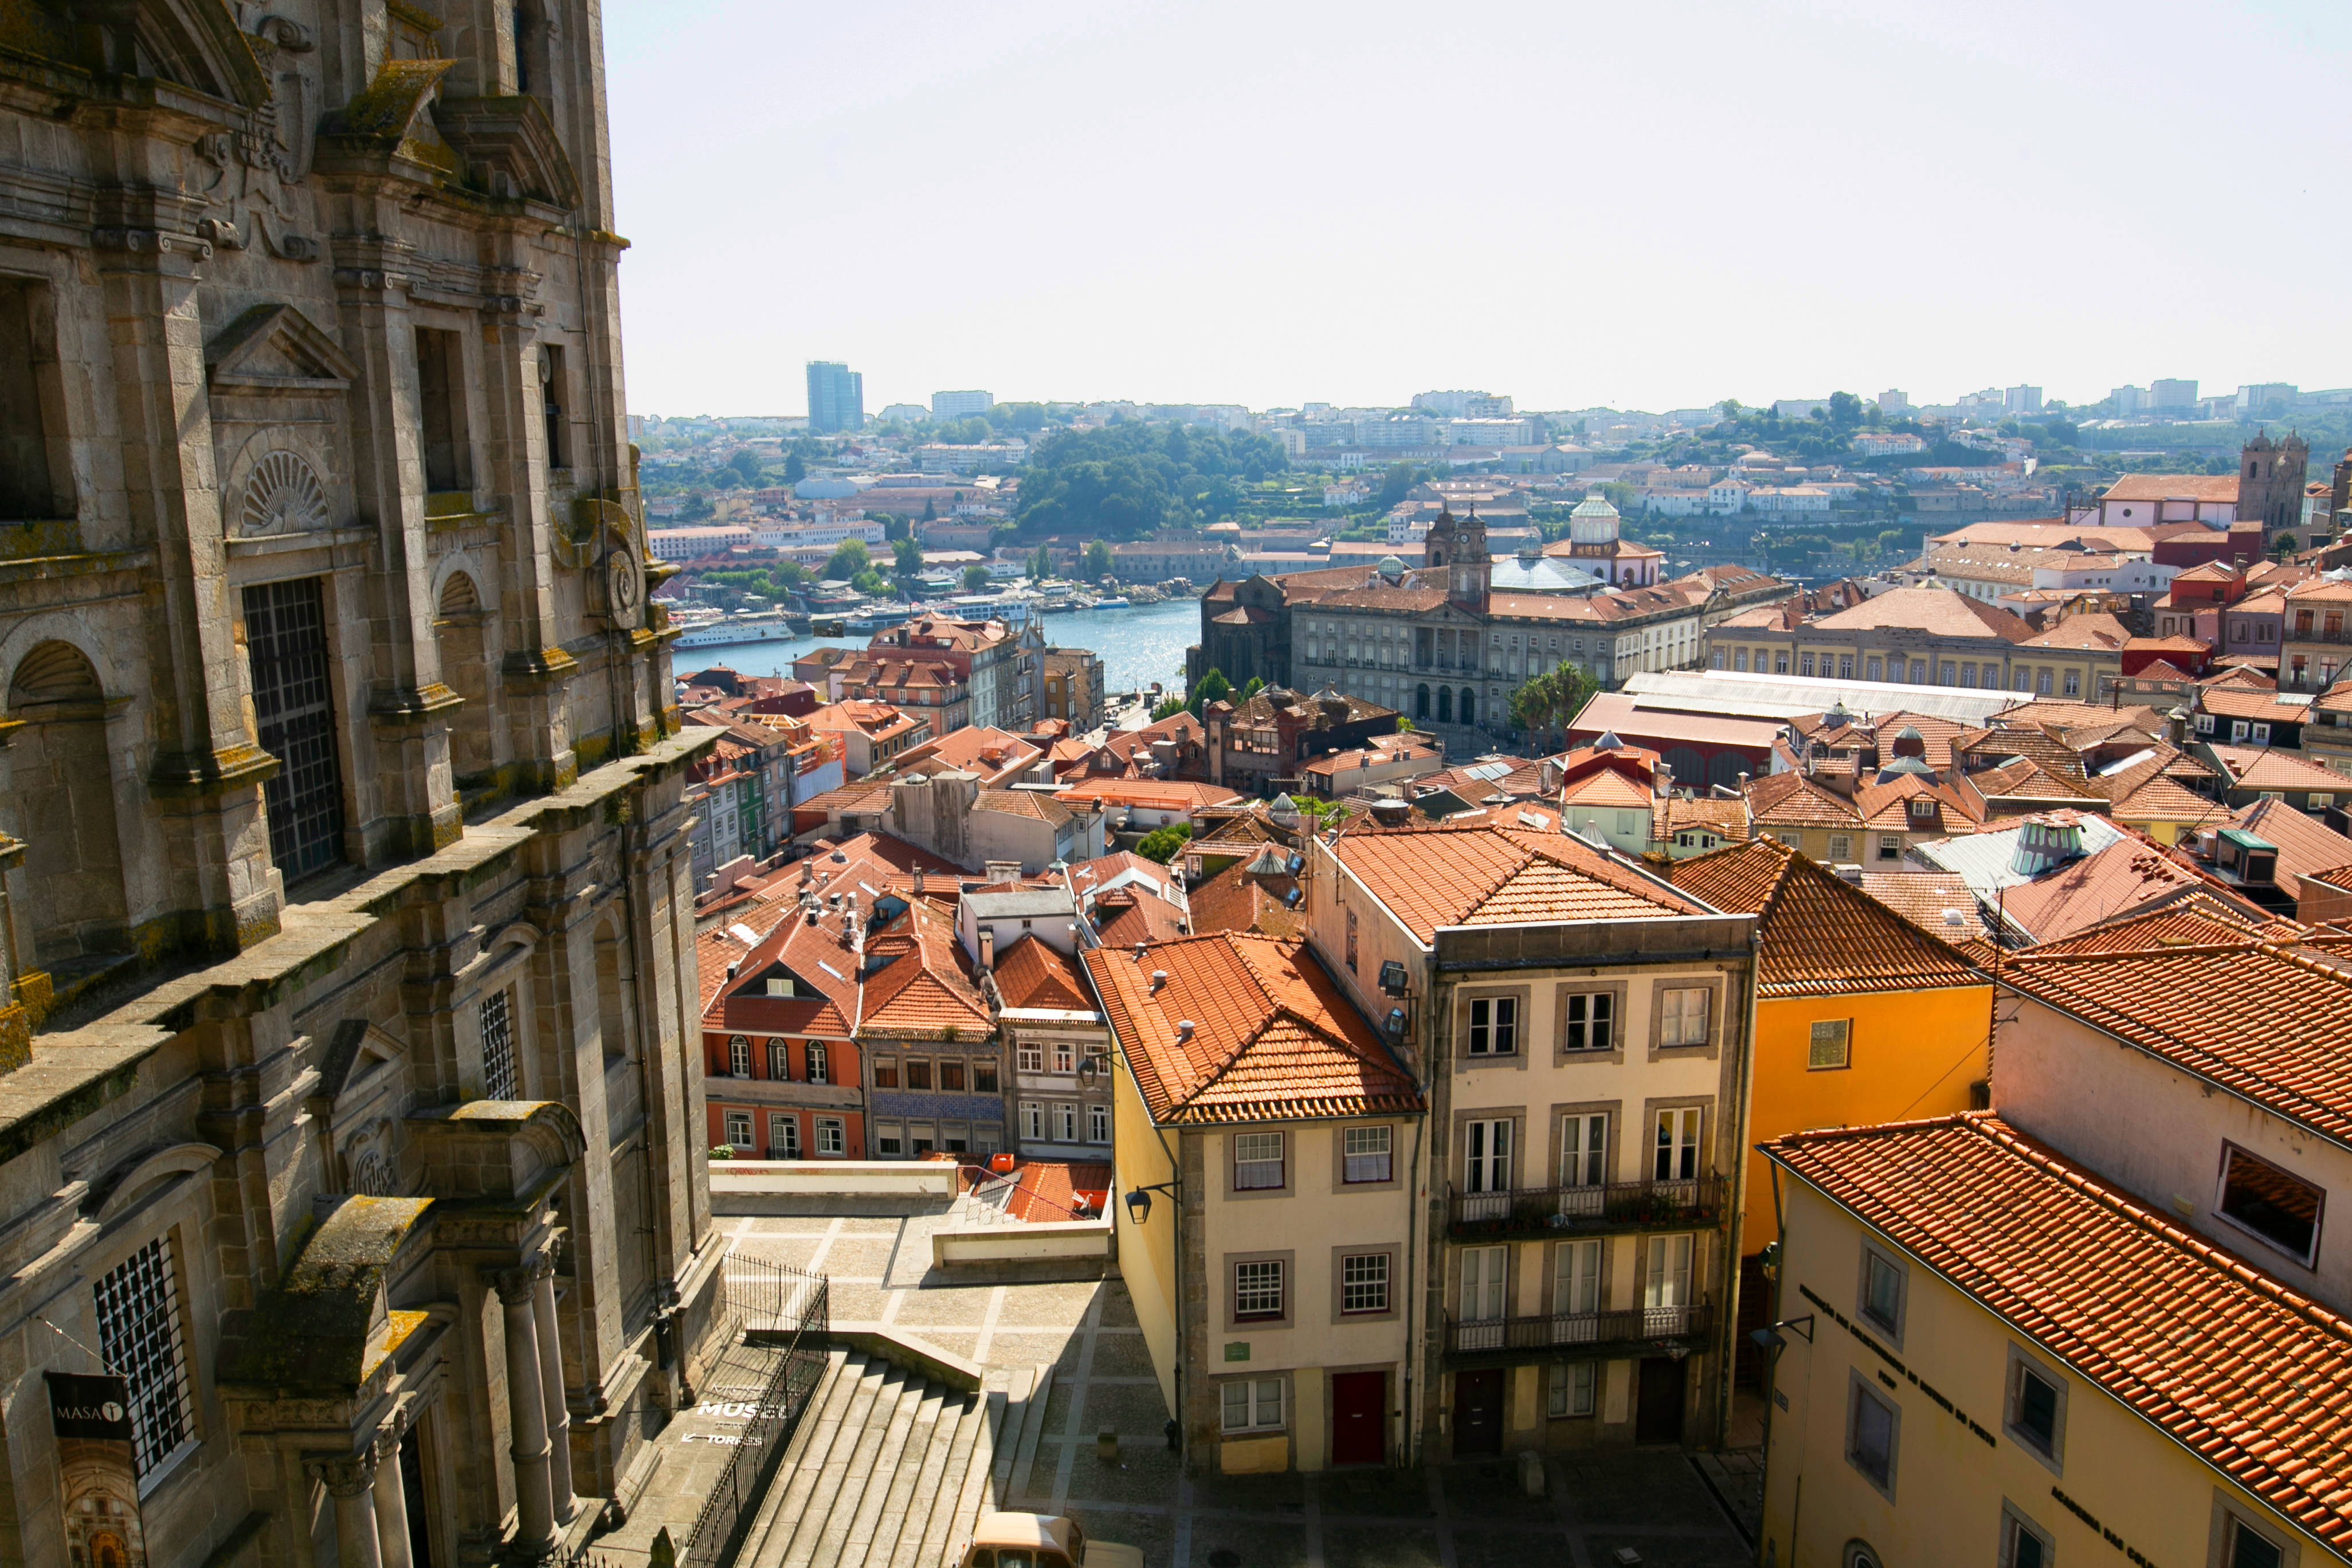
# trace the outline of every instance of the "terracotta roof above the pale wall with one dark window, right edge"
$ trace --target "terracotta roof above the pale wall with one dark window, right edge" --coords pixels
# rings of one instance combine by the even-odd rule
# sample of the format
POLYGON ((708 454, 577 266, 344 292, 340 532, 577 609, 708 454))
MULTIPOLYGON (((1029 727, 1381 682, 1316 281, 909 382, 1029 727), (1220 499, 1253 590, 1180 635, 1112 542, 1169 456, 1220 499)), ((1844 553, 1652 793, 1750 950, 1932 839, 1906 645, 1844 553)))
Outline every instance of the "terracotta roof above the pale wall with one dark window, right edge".
POLYGON ((2352 976, 2246 940, 2018 952, 2002 983, 2352 1145, 2352 976))

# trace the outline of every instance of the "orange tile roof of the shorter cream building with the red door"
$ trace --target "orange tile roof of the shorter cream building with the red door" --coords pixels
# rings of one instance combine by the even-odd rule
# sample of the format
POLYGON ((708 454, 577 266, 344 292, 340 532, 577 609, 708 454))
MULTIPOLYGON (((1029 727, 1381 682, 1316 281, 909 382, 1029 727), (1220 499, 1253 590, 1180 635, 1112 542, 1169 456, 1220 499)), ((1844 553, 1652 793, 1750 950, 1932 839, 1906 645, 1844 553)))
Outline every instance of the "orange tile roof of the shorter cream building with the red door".
POLYGON ((1145 947, 1141 959, 1096 947, 1087 973, 1152 1121, 1423 1110, 1421 1091, 1303 945, 1221 931, 1145 947), (1157 992, 1152 971, 1167 971, 1157 992))

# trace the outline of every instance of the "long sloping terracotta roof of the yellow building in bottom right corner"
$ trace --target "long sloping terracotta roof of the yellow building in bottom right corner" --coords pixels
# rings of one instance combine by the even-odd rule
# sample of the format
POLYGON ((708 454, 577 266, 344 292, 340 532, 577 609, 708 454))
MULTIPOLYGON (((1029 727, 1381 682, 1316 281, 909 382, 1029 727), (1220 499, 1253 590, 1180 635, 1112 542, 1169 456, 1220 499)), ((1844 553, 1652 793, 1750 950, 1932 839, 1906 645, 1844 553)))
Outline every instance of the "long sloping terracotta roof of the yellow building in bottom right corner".
MULTIPOLYGON (((1992 1112, 1797 1133, 1764 1152, 2296 1526, 2352 1549, 2352 1324, 1992 1112)), ((1828 1300, 1844 1288, 1797 1284, 1828 1300)))

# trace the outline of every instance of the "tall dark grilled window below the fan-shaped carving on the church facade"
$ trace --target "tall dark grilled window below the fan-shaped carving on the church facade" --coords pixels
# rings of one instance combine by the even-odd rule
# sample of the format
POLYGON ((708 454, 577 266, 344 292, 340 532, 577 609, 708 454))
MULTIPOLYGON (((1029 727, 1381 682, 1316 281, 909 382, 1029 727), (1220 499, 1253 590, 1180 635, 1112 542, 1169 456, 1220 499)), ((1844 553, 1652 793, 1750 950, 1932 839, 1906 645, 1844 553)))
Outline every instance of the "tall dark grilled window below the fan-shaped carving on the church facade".
POLYGON ((278 776, 261 785, 270 858, 287 882, 299 882, 343 860, 343 773, 318 578, 247 588, 245 649, 261 750, 278 759, 278 776))

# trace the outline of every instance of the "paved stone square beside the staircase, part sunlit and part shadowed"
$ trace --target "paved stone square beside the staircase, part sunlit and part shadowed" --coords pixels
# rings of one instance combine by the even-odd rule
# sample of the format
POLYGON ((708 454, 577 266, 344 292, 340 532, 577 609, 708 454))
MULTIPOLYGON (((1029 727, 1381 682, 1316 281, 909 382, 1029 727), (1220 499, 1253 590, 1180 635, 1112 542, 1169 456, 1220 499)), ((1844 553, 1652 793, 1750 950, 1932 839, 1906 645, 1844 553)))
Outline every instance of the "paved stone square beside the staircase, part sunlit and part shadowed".
MULTIPOLYGON (((724 1225, 746 1253, 830 1274, 840 1328, 889 1326, 955 1349, 988 1368, 988 1389, 1025 1392, 1033 1368, 1051 1368, 1042 1420, 1023 1422, 1014 1410, 1011 1441, 1000 1441, 993 1472, 1002 1476, 1004 1507, 1070 1514, 1091 1535, 1143 1547, 1152 1568, 1609 1568, 1621 1547, 1639 1552, 1649 1568, 1752 1561, 1715 1490, 1679 1450, 1552 1458, 1543 1497, 1519 1493, 1510 1462, 1188 1481, 1167 1450, 1167 1406, 1134 1302, 1117 1279, 950 1284, 929 1269, 922 1220, 739 1218, 724 1225), (1117 1460, 1096 1458, 1101 1432, 1120 1434, 1117 1460)), ((920 1403, 910 1420, 922 1425, 920 1403)), ((774 1512, 795 1502, 804 1512, 816 1490, 769 1502, 774 1512)), ((830 1519, 837 1509, 826 1509, 816 1537, 870 1533, 875 1526, 861 1514, 894 1519, 901 1507, 896 1493, 882 1493, 877 1507, 847 1519, 830 1519)), ((901 1540, 896 1561, 938 1568, 929 1552, 938 1552, 934 1540, 901 1540), (906 1556, 908 1549, 915 1556, 906 1556)), ((771 1549, 762 1568, 771 1559, 786 1561, 771 1549)))

